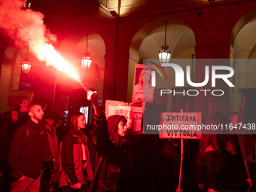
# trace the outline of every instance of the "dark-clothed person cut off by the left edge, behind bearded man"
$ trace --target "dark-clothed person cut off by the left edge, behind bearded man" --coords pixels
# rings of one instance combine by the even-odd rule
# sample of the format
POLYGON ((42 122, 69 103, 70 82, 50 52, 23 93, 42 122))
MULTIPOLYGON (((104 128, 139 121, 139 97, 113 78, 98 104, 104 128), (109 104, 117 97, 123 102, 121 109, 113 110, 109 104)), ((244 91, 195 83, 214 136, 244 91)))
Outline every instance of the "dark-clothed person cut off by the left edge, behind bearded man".
POLYGON ((8 163, 8 152, 14 132, 17 130, 18 113, 15 110, 8 111, 0 125, 0 172, 2 172, 2 181, 0 182, 0 191, 10 191, 11 171, 8 163))

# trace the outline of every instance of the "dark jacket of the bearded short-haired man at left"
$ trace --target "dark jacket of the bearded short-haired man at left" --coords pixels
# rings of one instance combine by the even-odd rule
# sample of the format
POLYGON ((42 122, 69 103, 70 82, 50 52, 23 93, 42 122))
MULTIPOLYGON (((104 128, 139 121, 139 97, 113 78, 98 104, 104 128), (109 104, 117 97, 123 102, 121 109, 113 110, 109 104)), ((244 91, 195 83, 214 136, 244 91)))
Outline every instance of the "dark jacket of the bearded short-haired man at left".
POLYGON ((36 124, 31 119, 14 133, 8 160, 15 180, 23 175, 38 178, 44 169, 43 160, 52 159, 46 136, 41 123, 36 124))

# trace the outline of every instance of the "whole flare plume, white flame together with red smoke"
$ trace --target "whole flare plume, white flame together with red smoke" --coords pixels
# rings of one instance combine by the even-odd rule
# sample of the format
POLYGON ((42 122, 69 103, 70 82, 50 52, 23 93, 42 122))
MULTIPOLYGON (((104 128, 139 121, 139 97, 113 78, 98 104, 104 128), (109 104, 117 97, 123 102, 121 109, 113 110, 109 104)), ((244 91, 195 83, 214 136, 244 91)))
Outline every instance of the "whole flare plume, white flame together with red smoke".
POLYGON ((0 0, 0 28, 5 35, 14 41, 16 47, 29 46, 39 60, 44 60, 47 65, 52 65, 59 71, 66 72, 72 78, 78 79, 75 70, 72 69, 54 49, 53 35, 44 25, 44 15, 31 9, 23 10, 24 1, 0 0))

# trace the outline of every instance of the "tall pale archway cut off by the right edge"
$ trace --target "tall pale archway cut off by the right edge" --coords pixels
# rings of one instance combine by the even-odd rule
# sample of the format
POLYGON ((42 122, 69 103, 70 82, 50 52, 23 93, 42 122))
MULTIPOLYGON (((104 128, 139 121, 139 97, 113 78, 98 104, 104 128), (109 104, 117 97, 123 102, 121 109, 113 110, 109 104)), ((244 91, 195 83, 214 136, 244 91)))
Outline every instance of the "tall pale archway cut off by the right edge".
MULTIPOLYGON (((248 113, 255 112, 255 102, 251 96, 256 92, 256 8, 244 14, 234 25, 230 44, 233 47, 235 69, 235 88, 233 95, 233 110, 246 97, 245 108, 248 113), (251 91, 248 93, 248 91, 251 91), (251 99, 251 100, 250 100, 251 99)), ((245 116, 248 114, 245 114, 245 116)))

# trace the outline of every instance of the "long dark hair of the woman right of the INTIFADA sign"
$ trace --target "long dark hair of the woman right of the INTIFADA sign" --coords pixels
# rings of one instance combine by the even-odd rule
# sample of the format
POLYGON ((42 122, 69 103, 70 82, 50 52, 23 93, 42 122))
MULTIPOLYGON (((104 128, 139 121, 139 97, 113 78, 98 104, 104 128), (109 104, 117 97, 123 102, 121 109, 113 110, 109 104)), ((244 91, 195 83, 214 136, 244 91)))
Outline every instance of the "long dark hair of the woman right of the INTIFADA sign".
POLYGON ((208 120, 206 121, 206 126, 215 125, 218 126, 219 129, 210 129, 208 130, 208 133, 203 133, 202 139, 200 141, 200 152, 198 154, 197 167, 202 166, 203 163, 205 162, 204 154, 206 153, 206 149, 209 147, 209 145, 211 145, 212 148, 218 153, 218 160, 215 166, 215 171, 220 171, 220 168, 223 166, 222 154, 225 150, 224 146, 229 137, 228 134, 224 134, 224 131, 221 129, 221 125, 224 126, 226 124, 227 126, 229 126, 230 119, 225 114, 214 113, 208 118, 208 120))

